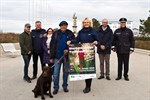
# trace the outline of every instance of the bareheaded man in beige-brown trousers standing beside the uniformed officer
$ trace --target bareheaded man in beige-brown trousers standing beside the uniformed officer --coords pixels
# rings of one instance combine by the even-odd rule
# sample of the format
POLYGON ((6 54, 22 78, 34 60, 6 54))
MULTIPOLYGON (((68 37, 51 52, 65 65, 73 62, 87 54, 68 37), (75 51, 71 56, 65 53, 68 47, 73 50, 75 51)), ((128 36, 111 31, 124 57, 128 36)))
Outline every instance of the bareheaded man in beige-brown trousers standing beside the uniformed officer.
POLYGON ((110 80, 110 53, 111 53, 111 45, 113 41, 113 32, 108 26, 108 20, 103 19, 102 25, 98 29, 98 36, 101 45, 97 47, 97 53, 99 54, 100 59, 100 77, 98 79, 104 78, 104 62, 106 63, 106 79, 110 80))

